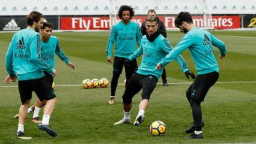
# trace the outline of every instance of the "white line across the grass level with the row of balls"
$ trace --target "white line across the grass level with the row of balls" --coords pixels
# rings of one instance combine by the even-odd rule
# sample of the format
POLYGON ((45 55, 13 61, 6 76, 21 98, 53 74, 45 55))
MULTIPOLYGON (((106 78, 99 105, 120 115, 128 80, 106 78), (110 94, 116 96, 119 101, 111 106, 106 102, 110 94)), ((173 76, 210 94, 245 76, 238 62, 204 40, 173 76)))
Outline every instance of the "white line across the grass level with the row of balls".
MULTIPOLYGON (((216 82, 217 84, 254 84, 256 81, 252 82, 246 82, 246 81, 240 81, 240 82, 216 82)), ((157 83, 162 84, 162 83, 157 83)), ((192 82, 169 82, 168 84, 192 84, 192 82)), ((118 84, 118 85, 124 85, 124 84, 118 84)), ((56 84, 55 86, 81 86, 81 84, 56 84)), ((16 88, 18 86, 0 86, 0 88, 16 88)))

